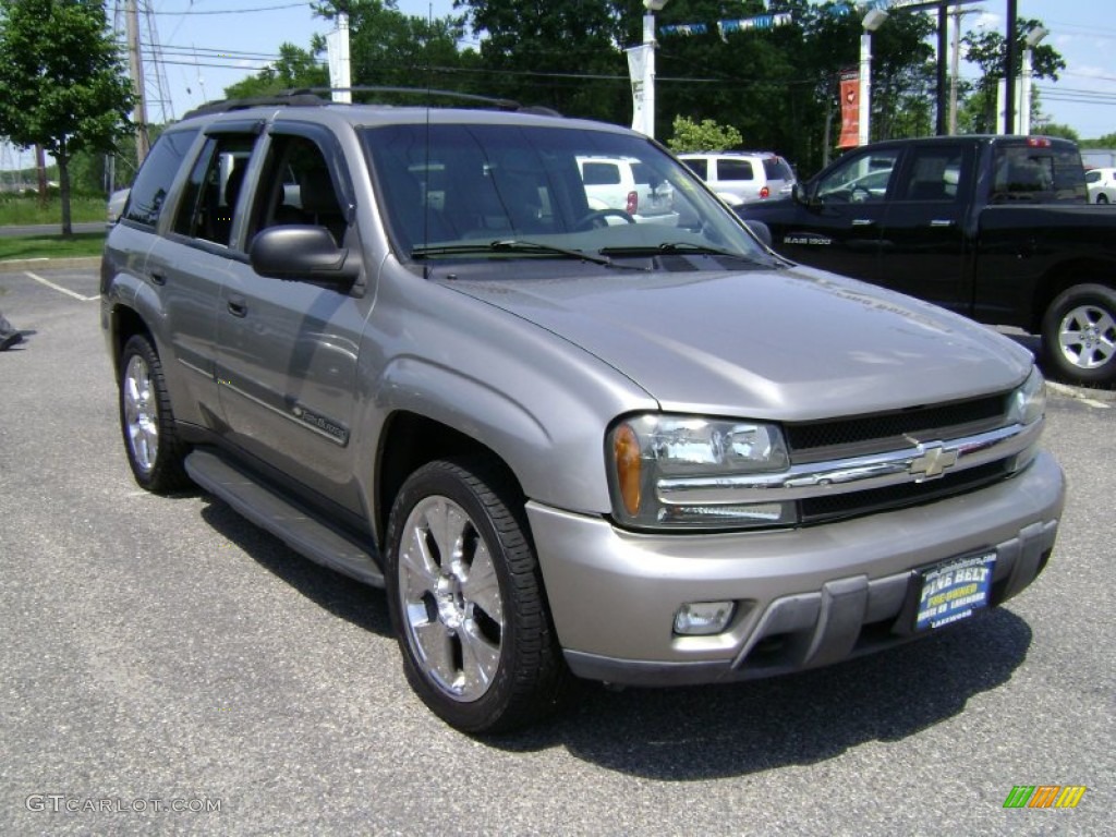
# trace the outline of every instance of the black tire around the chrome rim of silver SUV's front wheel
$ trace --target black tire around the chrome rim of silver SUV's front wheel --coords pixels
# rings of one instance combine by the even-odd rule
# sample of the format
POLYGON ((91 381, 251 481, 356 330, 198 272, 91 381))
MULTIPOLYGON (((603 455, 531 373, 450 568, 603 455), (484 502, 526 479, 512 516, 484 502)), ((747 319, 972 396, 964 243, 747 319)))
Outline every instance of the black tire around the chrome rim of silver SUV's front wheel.
POLYGON ((548 703, 556 702, 546 700, 546 693, 552 691, 557 696, 560 691, 557 655, 545 647, 541 658, 525 656, 522 651, 525 641, 532 646, 551 643, 552 629, 526 520, 517 513, 517 504, 509 501, 500 482, 491 469, 475 461, 437 461, 424 465, 406 480, 396 496, 386 533, 388 610, 407 681, 435 714, 469 733, 501 732, 529 723, 546 714, 548 703), (488 691, 471 702, 453 700, 426 676, 411 647, 403 618, 400 540, 411 511, 433 496, 452 500, 470 517, 492 556, 503 603, 499 666, 488 691), (493 512, 506 516, 502 530, 493 522, 493 512), (513 525, 509 527, 509 522, 513 525), (509 561, 517 564, 518 573, 511 571, 509 561), (531 565, 530 571, 525 574, 527 565, 531 565))

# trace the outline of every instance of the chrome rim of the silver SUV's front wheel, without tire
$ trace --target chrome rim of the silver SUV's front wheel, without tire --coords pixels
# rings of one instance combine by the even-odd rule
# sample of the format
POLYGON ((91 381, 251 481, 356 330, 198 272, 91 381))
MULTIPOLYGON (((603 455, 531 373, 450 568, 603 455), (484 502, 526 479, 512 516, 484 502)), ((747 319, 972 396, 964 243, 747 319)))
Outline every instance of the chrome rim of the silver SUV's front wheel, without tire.
POLYGON ((503 600, 488 545, 456 502, 427 497, 400 539, 400 602, 406 641, 446 696, 483 696, 500 667, 503 600))

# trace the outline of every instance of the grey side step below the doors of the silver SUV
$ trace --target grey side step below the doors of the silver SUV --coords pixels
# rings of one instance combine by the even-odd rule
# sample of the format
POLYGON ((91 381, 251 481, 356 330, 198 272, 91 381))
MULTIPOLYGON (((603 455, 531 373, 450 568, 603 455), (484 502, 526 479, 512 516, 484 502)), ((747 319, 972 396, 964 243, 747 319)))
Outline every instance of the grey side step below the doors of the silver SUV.
POLYGON ((186 456, 185 465, 194 482, 296 552, 373 587, 384 586, 384 575, 371 543, 362 546, 311 517, 210 450, 195 449, 186 456))

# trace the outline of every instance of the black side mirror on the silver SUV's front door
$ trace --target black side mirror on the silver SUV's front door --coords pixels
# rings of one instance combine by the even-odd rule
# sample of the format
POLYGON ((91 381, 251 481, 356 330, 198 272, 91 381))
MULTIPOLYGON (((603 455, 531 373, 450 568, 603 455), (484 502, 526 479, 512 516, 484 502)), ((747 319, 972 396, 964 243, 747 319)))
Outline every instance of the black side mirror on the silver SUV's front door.
POLYGON ((252 269, 275 279, 301 279, 352 287, 360 277, 359 257, 337 247, 325 227, 269 227, 248 248, 252 269))

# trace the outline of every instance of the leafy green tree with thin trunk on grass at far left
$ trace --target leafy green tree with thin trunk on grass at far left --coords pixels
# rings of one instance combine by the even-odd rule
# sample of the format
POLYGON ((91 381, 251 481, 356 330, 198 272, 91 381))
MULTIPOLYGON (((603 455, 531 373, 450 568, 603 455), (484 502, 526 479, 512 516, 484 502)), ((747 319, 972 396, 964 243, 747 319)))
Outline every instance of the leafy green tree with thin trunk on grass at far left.
POLYGON ((70 223, 69 164, 112 151, 133 97, 103 2, 9 0, 0 6, 0 135, 40 145, 58 163, 62 234, 70 223))

